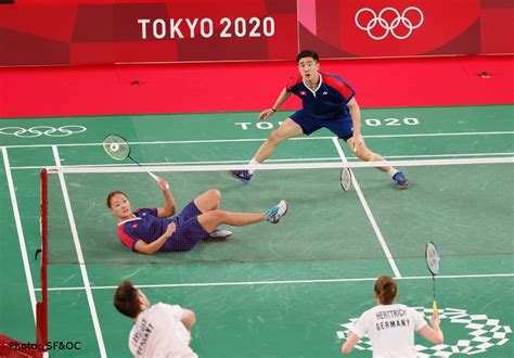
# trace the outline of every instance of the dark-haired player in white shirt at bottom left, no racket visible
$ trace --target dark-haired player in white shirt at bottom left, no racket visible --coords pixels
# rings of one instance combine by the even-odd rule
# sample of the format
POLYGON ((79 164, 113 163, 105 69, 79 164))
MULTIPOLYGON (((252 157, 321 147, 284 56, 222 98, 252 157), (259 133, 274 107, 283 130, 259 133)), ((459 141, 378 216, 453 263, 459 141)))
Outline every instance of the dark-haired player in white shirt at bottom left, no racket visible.
POLYGON ((195 322, 193 311, 179 305, 151 305, 129 281, 124 281, 116 290, 114 306, 134 321, 129 335, 129 348, 134 357, 198 357, 189 346, 195 322))

